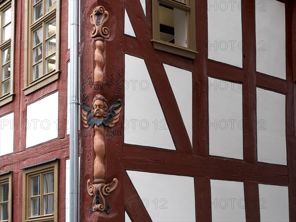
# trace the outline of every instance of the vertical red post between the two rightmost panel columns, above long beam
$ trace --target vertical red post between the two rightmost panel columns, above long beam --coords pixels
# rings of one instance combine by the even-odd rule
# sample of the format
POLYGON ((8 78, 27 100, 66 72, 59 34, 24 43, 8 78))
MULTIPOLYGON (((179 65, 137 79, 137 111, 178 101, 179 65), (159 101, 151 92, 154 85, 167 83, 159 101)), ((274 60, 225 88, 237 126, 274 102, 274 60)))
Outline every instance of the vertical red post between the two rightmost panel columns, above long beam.
POLYGON ((244 160, 257 162, 255 1, 242 4, 244 160), (245 102, 247 101, 247 102, 245 102))

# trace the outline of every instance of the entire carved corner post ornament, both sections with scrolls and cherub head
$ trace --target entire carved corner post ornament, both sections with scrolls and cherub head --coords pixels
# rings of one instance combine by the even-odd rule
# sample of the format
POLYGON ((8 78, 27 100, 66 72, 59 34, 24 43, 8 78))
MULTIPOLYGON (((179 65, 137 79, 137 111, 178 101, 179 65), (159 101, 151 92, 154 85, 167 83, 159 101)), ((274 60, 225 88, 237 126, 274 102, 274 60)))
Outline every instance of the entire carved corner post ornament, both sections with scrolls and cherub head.
MULTIPOLYGON (((106 21, 108 20, 109 13, 105 10, 103 6, 97 6, 94 8, 93 13, 90 15, 90 22, 93 25, 93 28, 90 32, 90 36, 95 40, 95 69, 94 69, 94 81, 104 81, 104 44, 105 38, 110 37, 109 29, 103 27, 106 21)), ((96 154, 94 160, 94 181, 93 184, 90 182, 90 179, 87 181, 87 191, 90 196, 93 196, 91 202, 90 214, 93 211, 105 211, 109 213, 110 207, 106 196, 109 196, 110 193, 116 189, 118 180, 116 178, 110 184, 105 182, 105 126, 112 127, 119 118, 121 108, 116 108, 117 110, 113 111, 112 106, 110 112, 107 116, 107 101, 104 96, 98 94, 93 98, 92 108, 87 108, 82 106, 82 120, 83 126, 88 127, 92 126, 95 130, 94 136, 94 151, 96 154), (84 109, 84 110, 83 110, 84 109), (106 113, 105 113, 106 112, 106 113), (111 114, 111 118, 109 115, 111 114), (104 118, 106 117, 107 118, 104 118), (95 117, 93 119, 92 117, 95 117), (107 120, 106 120, 107 119, 107 120)), ((120 104, 121 107, 121 104, 120 104)))

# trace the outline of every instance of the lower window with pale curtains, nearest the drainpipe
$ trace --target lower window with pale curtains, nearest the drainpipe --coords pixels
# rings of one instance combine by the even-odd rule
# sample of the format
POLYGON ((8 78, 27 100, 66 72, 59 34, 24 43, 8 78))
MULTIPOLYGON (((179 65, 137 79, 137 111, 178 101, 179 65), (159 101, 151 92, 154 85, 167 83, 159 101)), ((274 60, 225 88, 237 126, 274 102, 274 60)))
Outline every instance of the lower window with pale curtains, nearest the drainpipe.
POLYGON ((58 221, 58 160, 24 168, 23 221, 58 221))

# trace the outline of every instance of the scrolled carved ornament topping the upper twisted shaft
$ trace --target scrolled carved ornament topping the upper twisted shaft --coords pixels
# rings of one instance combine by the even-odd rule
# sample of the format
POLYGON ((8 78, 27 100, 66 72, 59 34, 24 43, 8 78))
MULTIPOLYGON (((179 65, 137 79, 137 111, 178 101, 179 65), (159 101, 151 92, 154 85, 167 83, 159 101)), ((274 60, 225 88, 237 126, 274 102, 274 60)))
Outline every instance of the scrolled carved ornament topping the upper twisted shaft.
POLYGON ((104 24, 107 22, 108 18, 109 13, 103 6, 97 6, 94 8, 93 13, 90 15, 90 23, 93 25, 93 28, 90 32, 91 37, 110 37, 109 29, 104 27, 104 24))

